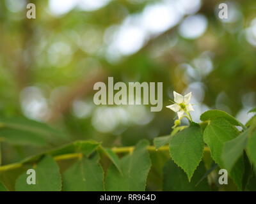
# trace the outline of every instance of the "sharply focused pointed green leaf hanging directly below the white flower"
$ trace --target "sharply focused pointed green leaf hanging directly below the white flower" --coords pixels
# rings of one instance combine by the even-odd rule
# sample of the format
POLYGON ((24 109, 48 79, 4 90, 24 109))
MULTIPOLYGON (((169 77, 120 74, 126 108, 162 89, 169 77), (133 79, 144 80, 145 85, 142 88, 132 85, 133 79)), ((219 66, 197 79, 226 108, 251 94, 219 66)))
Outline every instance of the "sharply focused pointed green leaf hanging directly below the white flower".
POLYGON ((198 124, 193 123, 170 140, 171 157, 186 172, 189 180, 200 163, 203 152, 204 140, 198 124))

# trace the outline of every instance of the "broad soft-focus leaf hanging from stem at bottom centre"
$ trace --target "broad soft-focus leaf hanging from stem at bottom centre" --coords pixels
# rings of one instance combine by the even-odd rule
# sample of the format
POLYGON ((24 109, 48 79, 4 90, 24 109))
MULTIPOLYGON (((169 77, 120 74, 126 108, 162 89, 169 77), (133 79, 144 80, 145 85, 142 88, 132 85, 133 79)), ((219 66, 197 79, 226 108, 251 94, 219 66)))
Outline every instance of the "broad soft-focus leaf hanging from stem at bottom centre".
POLYGON ((151 161, 147 151, 147 140, 141 140, 133 153, 120 160, 121 174, 111 165, 106 176, 106 191, 145 191, 151 161))

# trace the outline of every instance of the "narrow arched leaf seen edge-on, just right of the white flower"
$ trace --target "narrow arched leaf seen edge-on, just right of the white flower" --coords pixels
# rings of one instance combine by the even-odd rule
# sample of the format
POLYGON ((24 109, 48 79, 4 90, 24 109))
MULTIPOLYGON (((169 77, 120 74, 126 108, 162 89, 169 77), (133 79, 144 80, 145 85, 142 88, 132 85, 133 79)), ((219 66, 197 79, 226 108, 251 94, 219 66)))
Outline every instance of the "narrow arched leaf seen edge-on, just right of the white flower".
POLYGON ((200 120, 205 121, 205 120, 214 120, 218 119, 220 117, 225 118, 234 126, 242 126, 241 122, 237 121, 232 115, 229 115, 226 112, 223 112, 222 110, 207 110, 200 116, 200 120))

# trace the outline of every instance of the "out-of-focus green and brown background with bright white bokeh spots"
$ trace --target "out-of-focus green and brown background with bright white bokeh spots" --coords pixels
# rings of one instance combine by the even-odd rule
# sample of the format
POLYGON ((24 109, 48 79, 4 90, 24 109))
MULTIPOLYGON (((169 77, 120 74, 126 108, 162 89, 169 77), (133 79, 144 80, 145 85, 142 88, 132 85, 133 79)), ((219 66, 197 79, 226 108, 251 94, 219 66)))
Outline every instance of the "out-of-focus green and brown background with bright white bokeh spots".
MULTIPOLYGON (((256 106, 255 54, 255 0, 1 0, 0 117, 46 122, 67 142, 127 146, 168 135, 172 92, 192 91, 196 122, 217 108, 244 123, 256 106), (94 105, 93 85, 108 77, 163 82, 163 110, 94 105)), ((4 143, 3 163, 42 150, 4 143)))

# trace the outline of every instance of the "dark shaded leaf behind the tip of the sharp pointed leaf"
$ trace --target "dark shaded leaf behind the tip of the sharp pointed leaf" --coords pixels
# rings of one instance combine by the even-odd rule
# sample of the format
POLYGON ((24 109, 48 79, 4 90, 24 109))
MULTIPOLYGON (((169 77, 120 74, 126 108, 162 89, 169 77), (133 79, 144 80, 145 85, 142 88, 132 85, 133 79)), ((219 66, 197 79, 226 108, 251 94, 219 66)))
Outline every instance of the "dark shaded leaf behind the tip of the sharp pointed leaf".
POLYGON ((170 159, 163 168, 163 191, 209 191, 207 178, 196 185, 204 177, 205 171, 201 162, 189 182, 186 173, 170 159))

